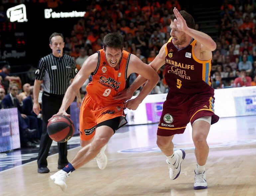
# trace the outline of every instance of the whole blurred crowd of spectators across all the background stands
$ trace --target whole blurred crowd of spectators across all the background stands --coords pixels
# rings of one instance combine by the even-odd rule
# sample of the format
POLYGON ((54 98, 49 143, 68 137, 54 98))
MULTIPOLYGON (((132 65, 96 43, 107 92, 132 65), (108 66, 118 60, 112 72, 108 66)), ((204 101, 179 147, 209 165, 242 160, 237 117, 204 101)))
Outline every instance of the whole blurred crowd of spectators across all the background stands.
MULTIPOLYGON (((58 6, 63 1, 38 2, 57 2, 58 6)), ((174 7, 184 9, 177 0, 87 1, 85 16, 78 19, 70 33, 65 35, 64 52, 74 58, 79 70, 88 56, 102 48, 103 37, 107 33, 119 32, 124 36, 124 49, 149 64, 170 38, 170 16, 174 7)), ((213 51, 211 66, 214 89, 256 85, 255 10, 254 0, 223 0, 219 34, 215 40, 217 48, 213 51)), ((195 29, 200 31, 198 24, 195 24, 195 29)), ((163 66, 158 71, 159 83, 151 94, 168 92, 164 72, 163 66)), ((8 73, 8 70, 0 70, 0 80, 3 83, 14 81, 21 89, 19 78, 10 78, 11 76, 3 73, 8 73)), ((132 74, 130 83, 136 77, 136 74, 132 74)), ((90 78, 81 88, 82 94, 86 93, 85 87, 89 81, 90 78)), ((139 90, 135 94, 138 93, 139 90)))

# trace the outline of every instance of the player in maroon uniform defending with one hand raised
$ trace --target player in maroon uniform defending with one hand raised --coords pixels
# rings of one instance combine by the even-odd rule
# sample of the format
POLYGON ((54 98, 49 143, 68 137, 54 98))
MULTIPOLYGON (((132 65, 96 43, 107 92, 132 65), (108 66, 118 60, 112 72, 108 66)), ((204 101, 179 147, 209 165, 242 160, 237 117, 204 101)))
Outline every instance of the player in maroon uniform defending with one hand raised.
MULTIPOLYGON (((211 88, 210 70, 212 51, 216 43, 205 33, 196 31, 193 17, 174 8, 171 16, 171 38, 157 57, 149 64, 156 71, 165 64, 165 80, 170 88, 157 130, 157 145, 166 155, 170 178, 176 179, 185 158, 183 150, 173 151, 175 134, 182 134, 189 122, 195 145, 196 167, 194 189, 207 188, 205 163, 209 147, 206 142, 210 125, 218 121, 214 114, 214 89, 211 88)), ((139 76, 129 89, 115 99, 131 98, 146 79, 139 76)), ((130 100, 132 101, 132 100, 130 100)), ((132 108, 130 101, 125 105, 132 108)))

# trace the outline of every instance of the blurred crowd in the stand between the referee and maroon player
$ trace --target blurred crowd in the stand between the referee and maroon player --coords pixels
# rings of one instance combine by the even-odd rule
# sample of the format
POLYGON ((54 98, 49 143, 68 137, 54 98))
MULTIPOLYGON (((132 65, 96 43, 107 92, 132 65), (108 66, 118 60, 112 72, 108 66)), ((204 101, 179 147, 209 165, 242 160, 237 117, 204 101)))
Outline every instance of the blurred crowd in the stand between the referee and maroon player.
MULTIPOLYGON (((85 17, 79 19, 70 36, 65 37, 64 52, 75 59, 79 70, 88 56, 102 49, 107 33, 119 32, 124 36, 124 50, 149 64, 170 38, 170 16, 173 14, 170 10, 174 7, 181 10, 177 0, 92 1, 86 8, 89 11, 85 17)), ((163 71, 164 68, 159 70, 160 82, 151 94, 168 91, 163 71)), ((136 77, 132 74, 130 83, 136 77)), ((83 92, 88 81, 82 87, 83 92)))

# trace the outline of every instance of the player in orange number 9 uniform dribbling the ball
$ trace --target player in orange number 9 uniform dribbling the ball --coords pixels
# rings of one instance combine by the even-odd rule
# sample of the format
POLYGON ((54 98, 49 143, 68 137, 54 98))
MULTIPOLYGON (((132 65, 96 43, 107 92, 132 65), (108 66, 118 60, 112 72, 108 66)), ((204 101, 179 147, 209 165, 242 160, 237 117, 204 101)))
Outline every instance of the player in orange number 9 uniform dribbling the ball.
POLYGON ((158 74, 137 56, 123 50, 121 34, 109 33, 103 39, 103 49, 86 59, 68 87, 56 115, 69 116, 65 112, 66 109, 85 80, 92 75, 92 81, 86 87, 87 95, 82 101, 79 118, 83 148, 68 165, 51 176, 63 191, 67 188, 65 181, 70 172, 93 158, 96 158, 100 169, 106 167, 106 144, 115 131, 127 123, 123 111, 125 99, 113 100, 113 97, 128 88, 129 76, 132 73, 140 74, 147 79, 139 96, 131 101, 132 108, 136 109, 157 84, 158 74))

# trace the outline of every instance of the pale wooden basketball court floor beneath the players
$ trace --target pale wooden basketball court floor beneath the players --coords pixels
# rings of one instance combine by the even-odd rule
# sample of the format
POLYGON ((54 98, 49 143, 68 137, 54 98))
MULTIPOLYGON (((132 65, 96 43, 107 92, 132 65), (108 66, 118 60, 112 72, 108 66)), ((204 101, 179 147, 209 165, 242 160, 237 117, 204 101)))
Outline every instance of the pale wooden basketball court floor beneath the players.
MULTIPOLYGON (((208 136, 208 189, 193 190, 195 156, 192 128, 174 137, 185 160, 176 180, 169 178, 165 156, 156 145, 157 124, 126 126, 110 139, 108 165, 100 170, 92 160, 67 178, 67 191, 49 178, 58 171, 58 154, 48 158, 50 173, 37 173, 36 161, 0 172, 3 196, 254 196, 256 195, 255 116, 221 118, 208 136)), ((80 147, 68 151, 70 161, 80 147)))

